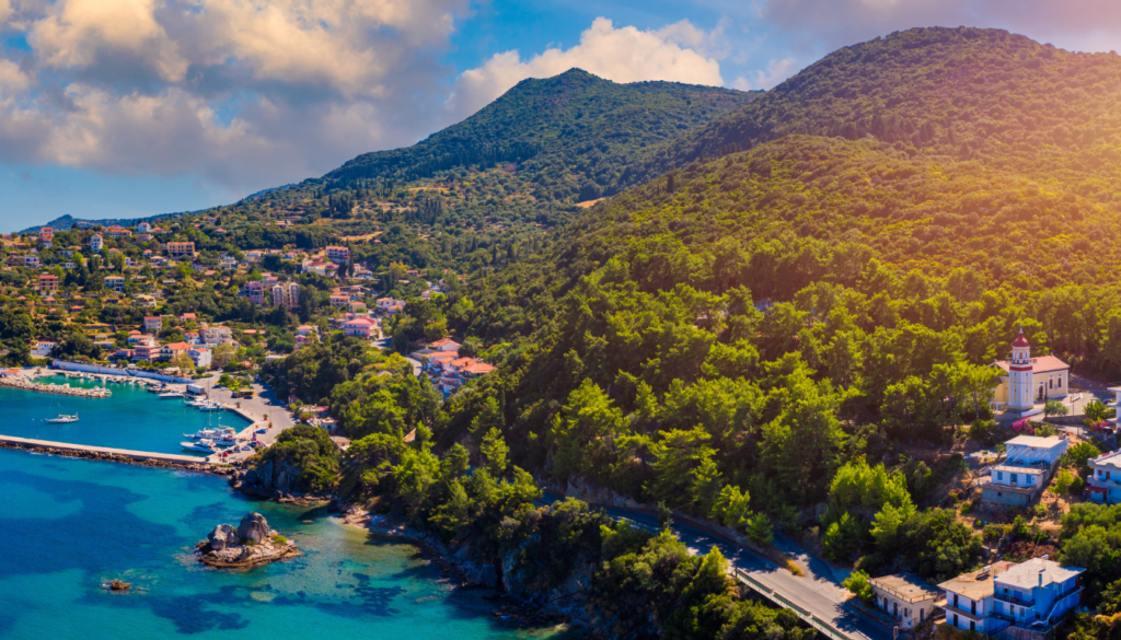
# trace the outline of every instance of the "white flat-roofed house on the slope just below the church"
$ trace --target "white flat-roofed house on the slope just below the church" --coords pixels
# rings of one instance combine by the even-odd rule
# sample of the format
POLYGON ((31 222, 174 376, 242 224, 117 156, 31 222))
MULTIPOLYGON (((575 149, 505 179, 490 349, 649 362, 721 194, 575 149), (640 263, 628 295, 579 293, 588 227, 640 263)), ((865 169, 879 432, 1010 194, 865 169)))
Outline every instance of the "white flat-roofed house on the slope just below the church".
POLYGON ((1069 442, 1058 436, 1017 436, 1004 446, 1008 457, 991 467, 989 482, 981 486, 981 500, 1027 507, 1047 488, 1069 442))

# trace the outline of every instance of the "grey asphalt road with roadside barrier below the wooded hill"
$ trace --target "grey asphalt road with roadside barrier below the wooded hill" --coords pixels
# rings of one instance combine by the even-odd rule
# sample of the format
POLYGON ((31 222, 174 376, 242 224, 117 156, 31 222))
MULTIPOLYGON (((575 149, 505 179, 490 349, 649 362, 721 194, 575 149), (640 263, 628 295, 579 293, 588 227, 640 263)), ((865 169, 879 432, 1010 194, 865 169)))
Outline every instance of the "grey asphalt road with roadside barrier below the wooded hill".
MULTIPOLYGON (((546 502, 559 497, 548 493, 546 502)), ((618 507, 601 507, 612 518, 623 518, 648 528, 658 529, 658 517, 643 511, 618 507)), ((779 568, 770 560, 734 542, 717 538, 692 525, 674 521, 674 534, 694 554, 707 554, 713 547, 720 549, 733 568, 741 569, 760 584, 775 590, 782 597, 828 622, 839 631, 854 640, 890 640, 891 629, 846 606, 847 591, 833 579, 828 566, 813 557, 793 540, 776 536, 775 546, 798 563, 806 574, 796 576, 779 568)))

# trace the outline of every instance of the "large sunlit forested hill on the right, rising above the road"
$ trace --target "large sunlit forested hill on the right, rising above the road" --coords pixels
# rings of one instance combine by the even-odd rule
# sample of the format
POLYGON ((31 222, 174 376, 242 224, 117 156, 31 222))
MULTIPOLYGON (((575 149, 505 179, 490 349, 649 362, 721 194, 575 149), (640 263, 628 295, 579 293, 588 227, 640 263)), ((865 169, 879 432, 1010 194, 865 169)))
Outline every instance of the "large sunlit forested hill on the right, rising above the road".
POLYGON ((827 504, 826 551, 877 573, 973 566, 956 514, 921 510, 955 467, 914 452, 1007 435, 989 364, 1020 327, 1121 377, 1118 61, 953 29, 827 57, 473 281, 450 326, 501 367, 435 437, 500 428, 559 485, 749 534, 827 504))

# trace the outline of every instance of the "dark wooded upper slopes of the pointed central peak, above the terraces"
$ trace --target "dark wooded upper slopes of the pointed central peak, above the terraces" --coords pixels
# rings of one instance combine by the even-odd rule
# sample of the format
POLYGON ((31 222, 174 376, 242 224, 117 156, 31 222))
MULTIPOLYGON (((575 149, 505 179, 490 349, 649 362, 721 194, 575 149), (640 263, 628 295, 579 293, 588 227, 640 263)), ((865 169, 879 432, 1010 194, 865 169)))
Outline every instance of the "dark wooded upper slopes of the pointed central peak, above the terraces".
POLYGON ((655 147, 760 93, 670 82, 615 84, 574 68, 521 81, 458 124, 413 147, 359 156, 323 179, 393 184, 512 163, 511 186, 535 198, 594 200, 627 185, 629 167, 655 147))

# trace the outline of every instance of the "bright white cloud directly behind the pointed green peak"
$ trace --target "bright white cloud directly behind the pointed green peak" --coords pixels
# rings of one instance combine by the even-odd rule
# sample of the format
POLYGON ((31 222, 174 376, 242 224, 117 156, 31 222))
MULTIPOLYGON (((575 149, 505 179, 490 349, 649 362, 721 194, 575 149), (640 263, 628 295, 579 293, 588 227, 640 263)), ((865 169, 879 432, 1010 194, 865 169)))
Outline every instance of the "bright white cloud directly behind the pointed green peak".
MULTIPOLYGON (((720 29, 717 27, 717 29, 720 29)), ((707 48, 719 33, 705 34, 687 20, 658 30, 615 28, 596 18, 569 48, 548 48, 522 61, 516 50, 494 54, 482 66, 463 72, 447 100, 448 110, 462 118, 474 113, 527 77, 549 77, 573 67, 614 82, 666 80, 720 85, 720 63, 697 49, 707 48)))

